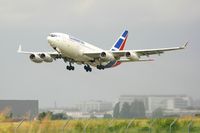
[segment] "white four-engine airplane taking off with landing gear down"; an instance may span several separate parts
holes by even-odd
[[[91,72],[92,67],[99,70],[113,68],[126,62],[153,61],[152,59],[141,59],[150,55],[160,55],[166,51],[184,49],[188,42],[180,47],[124,50],[128,38],[128,30],[124,30],[110,50],[103,50],[85,41],[77,39],[64,33],[50,33],[47,37],[49,45],[55,50],[53,52],[27,52],[22,51],[19,45],[18,53],[29,54],[31,61],[35,63],[53,62],[56,59],[63,59],[69,63],[67,70],[74,70],[74,63],[84,65],[86,72]]]

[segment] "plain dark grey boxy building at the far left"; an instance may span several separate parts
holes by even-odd
[[[38,115],[38,108],[38,100],[0,100],[0,112],[14,119],[33,119]]]

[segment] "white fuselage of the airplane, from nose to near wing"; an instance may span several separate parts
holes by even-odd
[[[99,61],[91,62],[94,59],[84,55],[83,53],[102,52],[103,49],[95,47],[92,44],[89,44],[67,34],[55,34],[57,36],[51,37],[50,35],[47,37],[48,43],[51,47],[60,52],[63,57],[73,59],[77,63],[88,63],[92,66],[96,66],[99,64]]]

